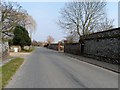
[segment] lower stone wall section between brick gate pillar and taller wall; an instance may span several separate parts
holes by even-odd
[[[75,55],[80,55],[81,45],[79,43],[66,43],[64,45],[64,52]]]

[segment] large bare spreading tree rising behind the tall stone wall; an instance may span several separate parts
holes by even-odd
[[[70,34],[81,35],[97,31],[99,24],[104,23],[106,2],[69,2],[61,10],[59,26]],[[109,24],[109,23],[108,23]]]

